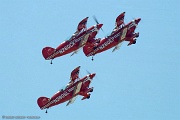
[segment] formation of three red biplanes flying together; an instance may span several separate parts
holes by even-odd
[[[141,18],[133,19],[129,23],[124,23],[125,12],[121,13],[115,20],[115,28],[111,34],[104,38],[96,38],[103,24],[99,24],[95,18],[96,25],[87,28],[88,17],[81,20],[77,26],[76,32],[66,41],[62,42],[58,47],[44,47],[42,55],[45,60],[52,60],[71,53],[76,54],[81,48],[84,54],[89,57],[113,48],[112,52],[118,50],[124,41],[129,42],[128,46],[136,44],[139,32],[135,32]],[[75,68],[70,75],[70,82],[63,89],[60,89],[51,98],[40,97],[37,103],[40,109],[48,109],[52,106],[66,102],[67,106],[72,104],[78,95],[83,96],[82,100],[90,98],[90,92],[93,87],[89,87],[95,73],[89,73],[83,78],[79,78],[80,66]],[[46,111],[47,112],[47,111]]]

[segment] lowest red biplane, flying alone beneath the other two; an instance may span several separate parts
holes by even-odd
[[[82,100],[90,98],[90,92],[93,91],[93,87],[90,88],[89,85],[96,74],[88,74],[87,76],[80,79],[79,70],[80,66],[75,68],[71,72],[70,82],[67,84],[67,86],[64,89],[60,89],[51,98],[38,98],[37,104],[41,110],[46,109],[47,113],[48,108],[66,101],[69,101],[66,105],[68,106],[75,101],[78,95],[83,96]]]

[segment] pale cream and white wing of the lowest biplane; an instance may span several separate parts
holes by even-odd
[[[77,98],[77,93],[79,93],[80,92],[80,90],[81,90],[81,86],[82,86],[82,82],[79,82],[77,85],[76,85],[76,87],[75,87],[75,89],[74,89],[74,92],[73,92],[73,97],[69,100],[69,102],[66,104],[66,106],[68,106],[69,104],[72,104],[72,103],[74,103],[74,101],[76,100],[76,98]]]

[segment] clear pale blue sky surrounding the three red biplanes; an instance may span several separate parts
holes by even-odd
[[[180,1],[179,0],[0,0],[0,115],[40,116],[42,120],[180,120]],[[103,23],[104,37],[116,17],[125,22],[142,18],[136,45],[97,54],[82,50],[53,61],[44,60],[45,46],[57,47],[77,24]],[[81,66],[97,76],[89,100],[52,107],[45,114],[40,96],[51,97]],[[0,116],[0,117],[1,117]],[[0,118],[1,119],[1,118]]]

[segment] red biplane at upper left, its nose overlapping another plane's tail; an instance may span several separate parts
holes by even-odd
[[[84,18],[81,22],[79,22],[77,31],[71,36],[69,40],[61,43],[56,49],[52,47],[45,47],[42,50],[43,57],[46,60],[52,60],[56,57],[63,56],[68,53],[72,53],[74,55],[78,52],[78,49],[83,47],[89,39],[95,38],[99,29],[103,24],[97,24],[90,28],[86,28],[88,17]],[[71,55],[71,56],[72,56]]]

